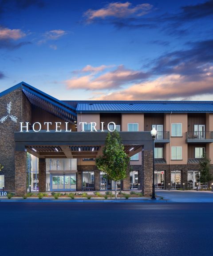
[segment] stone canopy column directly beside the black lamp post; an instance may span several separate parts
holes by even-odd
[[[153,182],[153,150],[142,151],[142,193],[144,196],[152,194]]]

